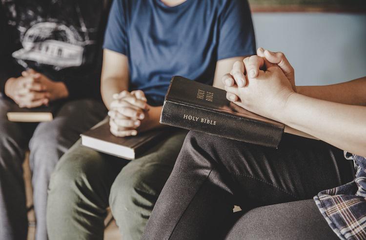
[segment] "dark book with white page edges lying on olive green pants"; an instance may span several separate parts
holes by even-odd
[[[165,130],[154,129],[121,138],[114,136],[109,129],[109,123],[106,122],[81,134],[81,144],[99,152],[133,160],[154,146],[158,142],[157,138],[166,134]]]

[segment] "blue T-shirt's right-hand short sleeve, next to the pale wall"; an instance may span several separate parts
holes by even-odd
[[[218,60],[254,55],[255,35],[247,0],[227,0],[219,18]]]

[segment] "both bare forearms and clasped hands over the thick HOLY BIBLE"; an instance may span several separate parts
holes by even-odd
[[[295,86],[283,53],[258,49],[236,62],[223,83],[227,99],[264,117],[366,156],[366,77],[328,86]]]

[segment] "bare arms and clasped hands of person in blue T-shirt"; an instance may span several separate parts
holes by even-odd
[[[224,88],[221,76],[235,61],[244,57],[217,61],[213,85]],[[128,92],[128,59],[125,55],[105,49],[103,54],[101,92],[109,109],[110,131],[118,137],[134,136],[139,132],[162,127],[159,123],[163,106],[150,106],[143,91]]]

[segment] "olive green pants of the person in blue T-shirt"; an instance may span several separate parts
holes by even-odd
[[[123,240],[139,240],[186,134],[185,130],[175,130],[132,161],[83,147],[81,140],[75,143],[50,180],[50,240],[103,239],[108,205]]]

